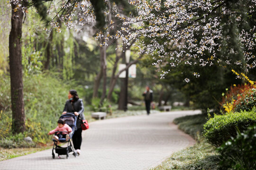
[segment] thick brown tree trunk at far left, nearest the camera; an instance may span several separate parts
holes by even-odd
[[[20,133],[25,131],[25,111],[23,100],[22,81],[22,19],[23,1],[15,1],[11,4],[11,31],[9,35],[9,66],[11,85],[11,109],[12,109],[12,131]],[[20,6],[21,5],[21,6]],[[18,7],[20,6],[20,7]],[[18,8],[18,10],[17,10]],[[16,12],[15,12],[16,11]]]

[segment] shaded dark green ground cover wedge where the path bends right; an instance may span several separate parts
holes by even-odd
[[[206,114],[189,115],[174,119],[174,123],[178,125],[179,129],[196,139],[203,132],[203,124],[207,121],[206,118]]]

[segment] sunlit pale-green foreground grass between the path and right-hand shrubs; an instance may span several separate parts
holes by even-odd
[[[215,148],[201,140],[192,147],[174,153],[150,170],[219,170],[219,156]]]

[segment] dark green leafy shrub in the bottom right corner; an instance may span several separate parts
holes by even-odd
[[[218,148],[223,170],[256,169],[256,125]]]

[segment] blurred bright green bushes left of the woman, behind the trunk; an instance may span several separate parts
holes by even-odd
[[[0,138],[1,146],[21,147],[12,145],[11,110],[9,77],[0,79]],[[30,136],[35,143],[46,143],[50,140],[47,133],[57,126],[64,102],[67,99],[70,84],[56,78],[54,74],[38,74],[24,77],[24,103],[26,114],[26,131],[23,136]],[[79,93],[79,90],[78,90]],[[22,146],[23,147],[23,146]]]

